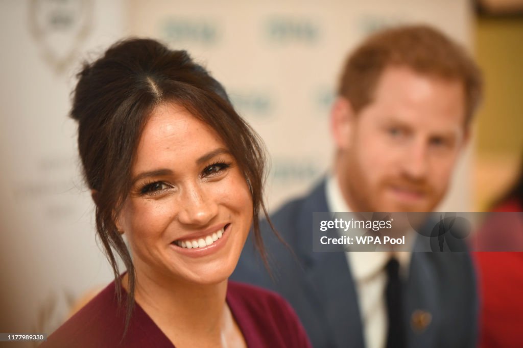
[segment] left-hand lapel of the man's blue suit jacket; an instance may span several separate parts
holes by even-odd
[[[325,182],[304,201],[298,218],[298,253],[317,315],[324,318],[336,347],[363,348],[362,326],[353,277],[343,251],[312,251],[312,213],[328,211]]]

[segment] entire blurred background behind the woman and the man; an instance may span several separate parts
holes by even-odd
[[[275,209],[329,169],[347,53],[411,22],[441,29],[483,69],[474,138],[439,210],[488,210],[523,155],[521,0],[1,0],[0,332],[51,333],[112,279],[68,118],[82,61],[129,35],[188,50],[265,140]]]

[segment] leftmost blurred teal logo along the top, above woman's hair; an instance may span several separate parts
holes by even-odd
[[[161,21],[160,33],[168,43],[212,45],[219,40],[218,25],[209,20],[167,18]]]

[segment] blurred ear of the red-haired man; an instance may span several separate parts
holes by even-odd
[[[331,110],[331,133],[338,150],[350,147],[355,116],[353,107],[346,98],[336,98]]]

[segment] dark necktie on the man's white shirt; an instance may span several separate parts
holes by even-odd
[[[403,320],[403,303],[400,279],[400,263],[391,257],[386,265],[387,285],[385,298],[387,303],[387,318],[389,331],[387,333],[387,348],[405,348],[405,328]]]

